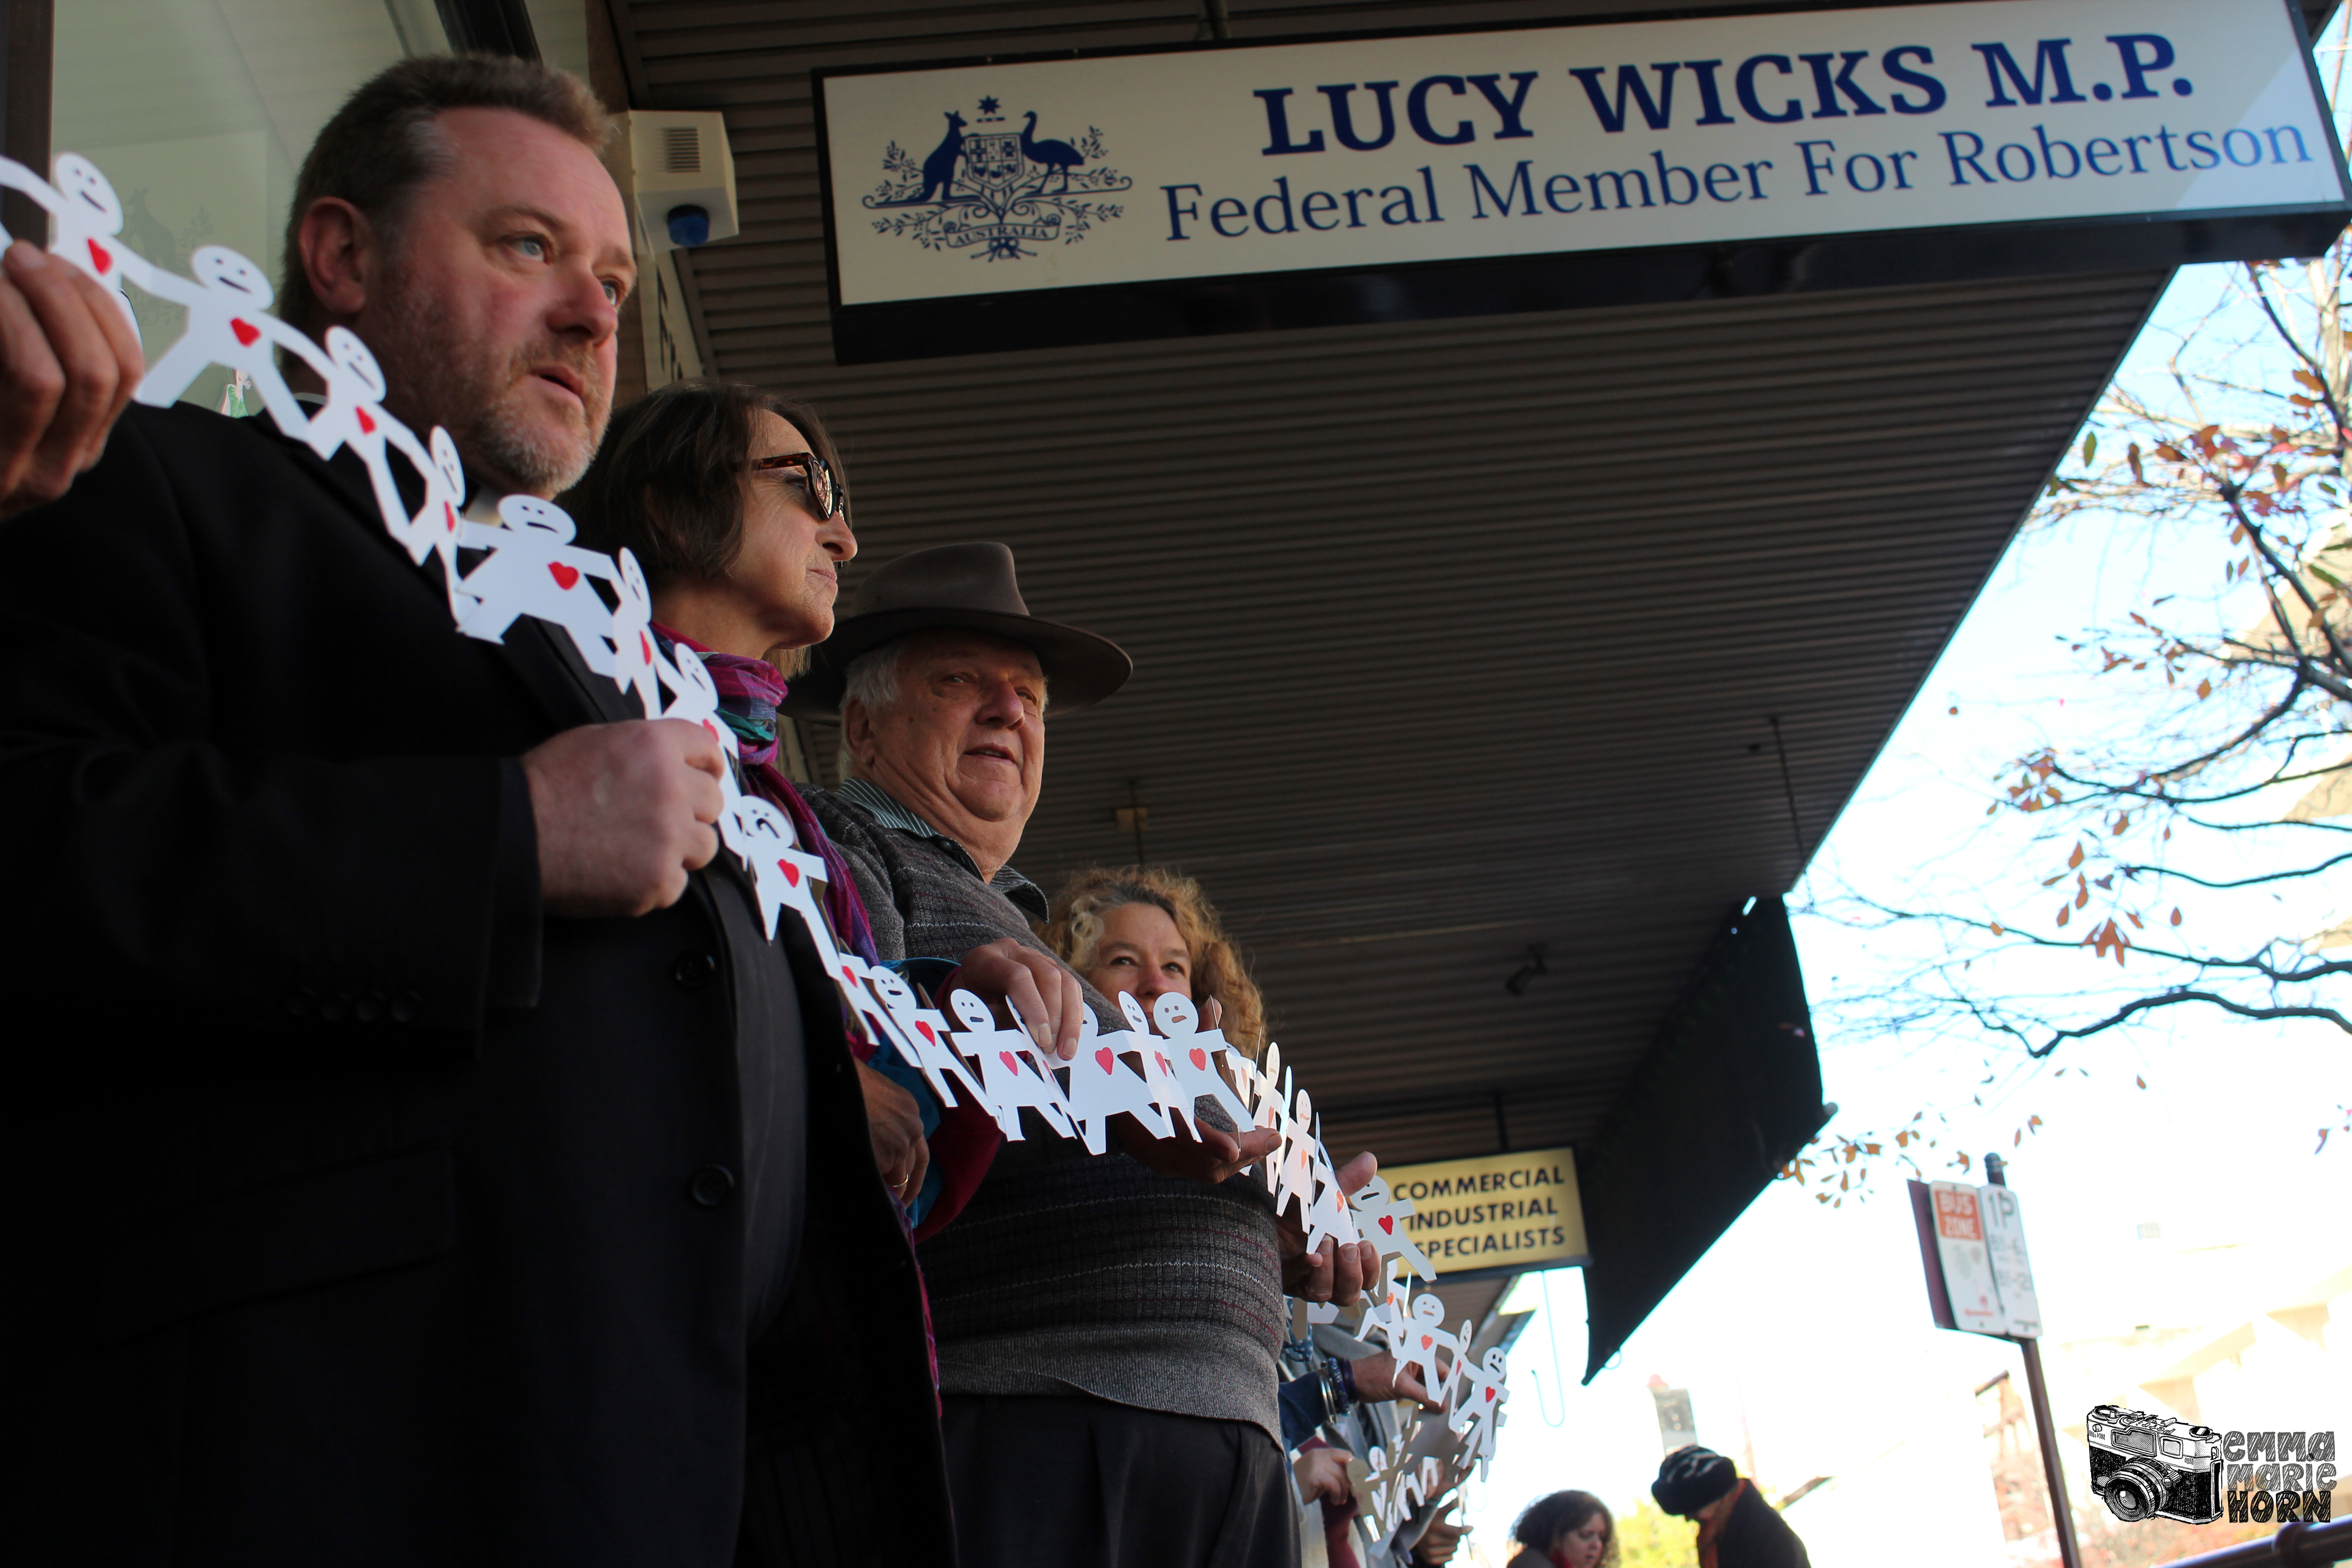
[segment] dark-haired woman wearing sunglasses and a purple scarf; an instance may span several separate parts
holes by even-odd
[[[755,386],[680,381],[614,416],[595,468],[567,501],[576,503],[586,541],[602,550],[626,545],[637,557],[654,635],[666,651],[694,649],[710,670],[720,712],[739,741],[743,788],[790,816],[802,846],[823,856],[833,938],[875,961],[847,863],[776,766],[776,703],[809,644],[833,632],[840,567],[858,550],[823,421]],[[990,959],[990,950],[964,954],[967,983],[981,976],[974,990],[997,990],[990,961],[1021,964]],[[913,1222],[929,1166],[922,1103],[906,1088],[915,1074],[887,1046],[875,1053],[851,1039],[851,1051],[875,1166]],[[833,1201],[856,1178],[807,1173],[802,1260],[830,1255],[821,1244],[837,1227]],[[913,1265],[913,1241],[908,1248]],[[924,1474],[936,1474],[936,1434],[880,1434],[856,1415],[875,1359],[887,1354],[870,1342],[861,1286],[802,1262],[776,1319],[755,1328],[739,1561],[762,1568],[896,1561],[887,1549],[898,1540],[894,1519],[920,1512],[908,1488],[920,1483],[922,1467],[910,1462],[889,1474],[877,1455],[901,1443],[920,1455],[929,1446]],[[936,1371],[929,1378],[936,1387]]]

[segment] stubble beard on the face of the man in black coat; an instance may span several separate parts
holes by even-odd
[[[612,418],[612,386],[593,348],[539,336],[513,355],[499,355],[452,331],[449,313],[419,287],[395,287],[383,324],[369,348],[393,388],[393,414],[419,430],[442,425],[456,440],[466,465],[513,484],[517,491],[555,496],[588,473]],[[569,430],[548,430],[517,404],[532,364],[557,362],[581,376],[583,404]]]

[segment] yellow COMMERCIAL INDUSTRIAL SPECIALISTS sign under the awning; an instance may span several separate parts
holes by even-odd
[[[1439,1274],[1583,1262],[1585,1208],[1571,1150],[1519,1150],[1381,1171],[1411,1199],[1406,1234]]]

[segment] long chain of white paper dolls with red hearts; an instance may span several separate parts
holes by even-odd
[[[214,364],[242,374],[282,435],[320,458],[341,449],[360,458],[386,531],[419,567],[428,555],[440,557],[459,632],[501,642],[522,616],[562,628],[593,672],[637,696],[644,717],[701,724],[729,757],[739,755],[701,658],[691,649],[666,651],[654,642],[652,595],[635,557],[574,545],[572,517],[532,496],[506,496],[499,524],[463,517],[466,468],[456,442],[440,428],[419,442],[414,430],[383,411],[383,371],[355,334],[329,327],[320,346],[273,317],[268,273],[228,247],[200,247],[191,256],[193,277],[139,256],[120,237],[122,202],[113,186],[78,153],[56,158],[54,186],[0,158],[0,188],[28,195],[49,214],[56,230],[49,254],[108,289],[134,329],[125,287],[186,308],[188,324],[139,383],[139,402],[169,407]],[[5,228],[0,244],[7,244]],[[327,388],[318,411],[306,411],[287,388],[278,371],[280,353],[301,360]],[[423,480],[423,503],[414,510],[402,498],[395,456]],[[487,555],[461,571],[459,550]],[[612,592],[612,604],[597,585]],[[1265,1157],[1275,1213],[1296,1218],[1310,1251],[1324,1241],[1371,1241],[1381,1251],[1385,1300],[1371,1305],[1362,1333],[1385,1338],[1399,1366],[1421,1356],[1423,1385],[1444,1408],[1446,1425],[1463,1434],[1461,1450],[1439,1472],[1430,1469],[1435,1458],[1411,1469],[1397,1458],[1376,1476],[1381,1519],[1388,1521],[1383,1533],[1414,1500],[1432,1500],[1430,1488],[1442,1476],[1458,1476],[1472,1458],[1484,1469],[1508,1399],[1503,1354],[1494,1349],[1486,1366],[1470,1368],[1463,1359],[1470,1326],[1463,1324],[1458,1335],[1444,1333],[1444,1307],[1435,1295],[1397,1288],[1399,1267],[1435,1279],[1430,1260],[1406,1234],[1404,1218],[1414,1206],[1395,1199],[1378,1178],[1362,1192],[1338,1190],[1312,1103],[1303,1088],[1294,1091],[1279,1046],[1268,1046],[1263,1065],[1251,1063],[1221,1032],[1200,1030],[1190,1001],[1174,994],[1160,997],[1152,1020],[1143,1018],[1134,997],[1122,997],[1129,1027],[1110,1034],[1098,1032],[1087,1013],[1080,1056],[1068,1065],[1047,1058],[1021,1030],[1000,1027],[971,992],[948,997],[962,1025],[950,1027],[896,971],[868,966],[835,940],[814,891],[826,879],[826,863],[797,842],[790,818],[743,792],[734,771],[722,778],[722,795],[720,837],[750,879],[767,933],[774,938],[786,910],[797,914],[858,1025],[915,1063],[946,1105],[957,1103],[957,1091],[971,1095],[1007,1138],[1021,1138],[1021,1110],[1035,1110],[1056,1131],[1084,1138],[1094,1152],[1108,1147],[1108,1124],[1120,1114],[1138,1117],[1160,1135],[1181,1124],[1197,1138],[1204,1100],[1221,1105],[1235,1126],[1275,1131],[1279,1145]],[[1315,1307],[1310,1319],[1334,1321],[1336,1309]],[[1439,1349],[1449,1356],[1446,1373],[1437,1373]],[[1404,1446],[1399,1441],[1399,1453]],[[1449,1488],[1451,1479],[1444,1481]]]

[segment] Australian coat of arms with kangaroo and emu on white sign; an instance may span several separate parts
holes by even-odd
[[[1035,244],[1077,244],[1096,223],[1120,216],[1101,200],[1134,181],[1103,167],[1103,132],[1073,141],[1037,134],[1037,110],[1009,129],[997,99],[981,99],[967,125],[946,110],[948,134],[920,162],[896,141],[882,155],[884,179],[866,197],[884,235],[910,235],[924,249],[988,261],[1035,256]]]

